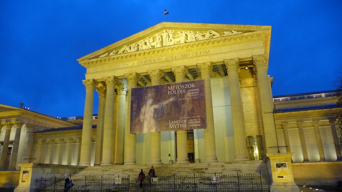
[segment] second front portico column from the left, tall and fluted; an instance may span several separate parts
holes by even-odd
[[[103,135],[103,153],[101,165],[112,165],[112,139],[113,139],[113,125],[114,125],[114,99],[115,99],[115,77],[105,78],[107,85],[107,96],[105,106],[105,124]]]

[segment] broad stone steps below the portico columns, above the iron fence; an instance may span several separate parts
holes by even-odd
[[[137,176],[140,169],[145,174],[149,173],[151,165],[112,165],[91,166],[72,177],[84,176]],[[263,161],[239,161],[239,162],[211,162],[211,163],[176,163],[154,164],[157,176],[163,175],[192,175],[192,174],[236,174],[236,173],[268,173],[267,165]]]

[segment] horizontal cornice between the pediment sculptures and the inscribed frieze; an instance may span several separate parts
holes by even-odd
[[[253,33],[256,33],[256,32],[253,32]],[[170,53],[178,54],[178,53],[182,53],[185,51],[189,52],[189,51],[200,50],[203,48],[212,48],[212,47],[217,47],[217,46],[224,46],[224,45],[230,45],[230,44],[253,41],[253,40],[262,39],[265,42],[265,35],[263,35],[260,32],[256,34],[249,34],[249,35],[238,34],[238,35],[235,35],[234,38],[227,38],[227,37],[229,36],[211,38],[211,39],[206,39],[206,40],[201,40],[201,41],[194,41],[190,43],[170,45],[167,47],[153,48],[153,49],[148,49],[148,50],[143,50],[143,51],[130,52],[130,53],[125,53],[125,54],[114,55],[111,57],[94,58],[94,59],[89,59],[86,61],[81,61],[80,64],[88,68],[88,67],[100,66],[100,65],[105,65],[105,64],[129,62],[129,61],[136,60],[137,58],[144,59],[144,58],[149,58],[151,56],[162,57],[162,56],[167,56]]]

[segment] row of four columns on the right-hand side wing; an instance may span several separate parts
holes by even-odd
[[[341,154],[341,147],[340,143],[338,140],[338,135],[336,131],[336,120],[335,119],[330,119],[329,124],[331,128],[331,133],[333,137],[333,143],[334,143],[334,149],[335,153],[337,156],[337,160],[340,161],[342,160],[342,154]],[[320,130],[320,120],[313,120],[311,121],[312,127],[314,128],[314,135],[315,135],[315,140],[316,140],[316,145],[318,149],[318,154],[320,156],[320,162],[325,162],[325,154],[324,154],[324,148],[323,148],[323,143],[322,143],[322,138],[321,138],[321,130]],[[300,147],[302,151],[302,156],[303,156],[303,162],[310,162],[309,160],[309,151],[307,149],[307,140],[305,138],[304,134],[304,128],[303,128],[303,121],[297,121],[296,122],[297,129],[299,132],[299,139],[300,139]],[[282,122],[281,123],[282,129],[283,129],[283,135],[284,135],[284,141],[285,141],[285,146],[286,147],[286,152],[291,153],[292,148],[291,148],[291,143],[290,143],[290,138],[289,138],[289,131],[288,131],[288,122]]]

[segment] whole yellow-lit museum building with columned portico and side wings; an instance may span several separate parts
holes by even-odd
[[[31,162],[200,166],[268,154],[290,156],[296,183],[311,179],[296,170],[324,163],[336,170],[336,91],[273,97],[271,29],[162,22],[79,58],[84,116],[59,119],[0,105],[0,170]]]

